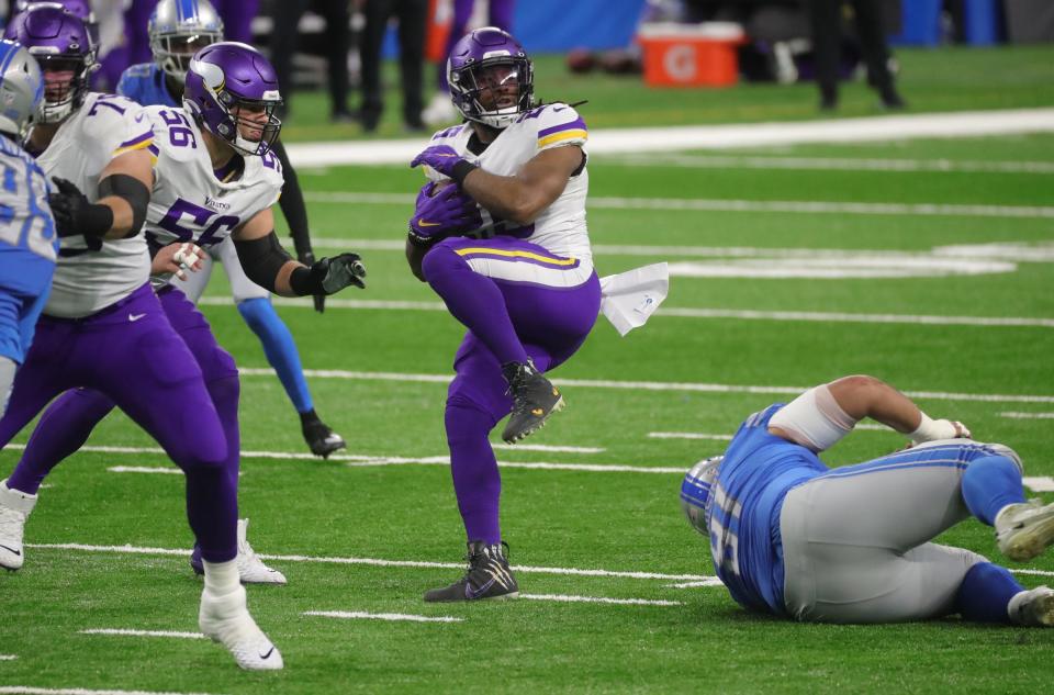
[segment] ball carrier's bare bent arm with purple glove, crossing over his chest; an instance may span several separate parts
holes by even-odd
[[[534,222],[542,210],[560,198],[568,179],[582,166],[584,156],[578,145],[553,147],[535,155],[515,176],[497,176],[471,165],[452,148],[440,145],[425,149],[411,166],[428,165],[452,178],[461,190],[491,214],[525,225]]]

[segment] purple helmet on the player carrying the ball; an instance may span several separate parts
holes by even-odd
[[[532,105],[530,58],[512,34],[496,26],[470,32],[453,45],[447,58],[447,81],[461,115],[498,130]]]

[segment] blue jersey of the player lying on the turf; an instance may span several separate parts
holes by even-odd
[[[786,615],[783,500],[792,487],[829,470],[805,447],[769,433],[769,421],[782,407],[770,405],[740,425],[706,505],[715,572],[738,604],[777,615]]]

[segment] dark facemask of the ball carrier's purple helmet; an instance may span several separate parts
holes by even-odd
[[[470,121],[503,130],[532,107],[534,67],[526,56],[503,53],[457,70],[448,64],[447,71],[453,105]]]

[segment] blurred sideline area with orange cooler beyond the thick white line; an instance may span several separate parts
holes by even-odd
[[[7,18],[13,0],[0,0]],[[113,88],[149,61],[156,0],[94,0]],[[1045,105],[1050,0],[215,0],[231,40],[267,52],[288,139],[413,136],[457,119],[449,46],[511,31],[542,99],[590,123],[662,125]]]

